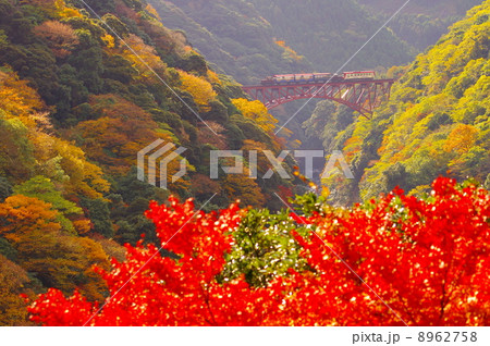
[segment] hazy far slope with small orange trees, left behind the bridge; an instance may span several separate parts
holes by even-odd
[[[274,39],[271,25],[243,0],[151,0],[163,23],[182,29],[210,62],[242,84],[284,71],[310,70],[304,57]]]

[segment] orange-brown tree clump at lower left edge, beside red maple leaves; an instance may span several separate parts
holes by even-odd
[[[0,203],[0,236],[17,251],[19,264],[47,287],[69,294],[81,288],[90,299],[102,299],[106,287],[91,265],[109,269],[102,247],[62,230],[59,212],[37,198],[14,195]]]

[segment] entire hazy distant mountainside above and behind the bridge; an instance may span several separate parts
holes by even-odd
[[[405,1],[150,0],[163,23],[238,83],[336,71]],[[479,0],[413,0],[345,70],[411,62]]]

